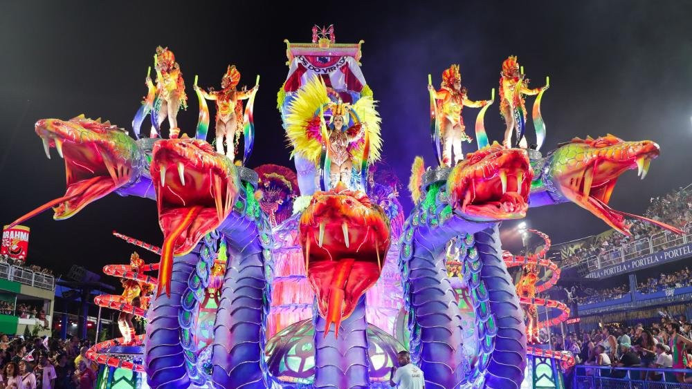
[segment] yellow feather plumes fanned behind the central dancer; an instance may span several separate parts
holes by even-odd
[[[315,163],[320,161],[322,153],[322,117],[320,112],[335,115],[339,109],[344,111],[344,124],[348,127],[364,126],[370,141],[368,162],[380,158],[382,138],[380,137],[381,119],[375,109],[375,102],[370,96],[361,96],[355,104],[342,104],[329,99],[327,86],[320,77],[313,77],[296,93],[295,99],[288,107],[284,120],[286,137],[293,153]],[[365,138],[365,137],[363,137]],[[363,158],[364,140],[354,142],[349,146],[349,153],[355,160]]]

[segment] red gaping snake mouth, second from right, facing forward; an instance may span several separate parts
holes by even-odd
[[[533,178],[526,151],[495,145],[468,157],[447,180],[454,210],[473,220],[524,218]]]

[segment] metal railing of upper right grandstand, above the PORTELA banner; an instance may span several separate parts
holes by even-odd
[[[625,243],[619,247],[613,247],[608,251],[579,258],[574,262],[566,263],[563,267],[569,269],[586,263],[590,271],[617,265],[626,260],[638,258],[655,252],[660,252],[671,247],[684,245],[692,242],[692,231],[685,235],[677,235],[668,231],[653,234],[648,238],[641,238],[634,242]],[[692,389],[692,388],[691,388]]]

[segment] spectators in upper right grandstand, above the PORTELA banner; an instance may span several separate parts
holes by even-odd
[[[644,212],[644,216],[654,220],[665,222],[673,227],[678,227],[684,231],[691,231],[692,228],[692,186],[679,188],[677,191],[668,193],[651,199],[651,204]],[[623,234],[608,234],[607,236],[594,237],[590,245],[574,247],[570,250],[571,255],[563,257],[563,265],[576,265],[577,263],[593,256],[601,256],[602,260],[608,260],[608,252],[614,247],[622,247],[623,253],[636,254],[648,248],[649,236],[662,231],[652,223],[634,220],[630,225],[632,236]],[[662,243],[659,249],[667,249],[676,243]],[[576,246],[576,245],[575,245]],[[620,256],[615,252],[612,256]],[[604,258],[605,257],[605,258]]]

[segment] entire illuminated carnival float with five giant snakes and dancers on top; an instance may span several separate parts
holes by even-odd
[[[538,254],[513,256],[502,250],[500,223],[531,207],[574,202],[623,234],[628,217],[680,232],[608,207],[619,175],[637,169],[644,178],[659,155],[654,142],[575,137],[545,156],[538,151],[549,83],[529,88],[516,57],[500,76],[502,144],[484,125],[494,89],[490,99],[470,99],[459,65],[444,70],[440,88],[428,77],[437,160],[426,168],[415,158],[407,217],[396,176],[379,162],[381,118],[361,71],[363,41],[336,43],[333,26],[316,26],[309,43],[285,43],[289,72],[277,106],[295,171],[248,167],[260,77],[238,89],[232,64],[219,91],[194,77],[198,124],[193,137],[181,131],[185,82],[169,48],[156,49],[156,79],[149,70],[134,137],[84,115],[35,124],[48,158],[55,148],[64,159],[67,188],[13,224],[51,208],[55,220],[69,218],[110,193],[148,198],[158,211],[161,247],[116,236],[159,263],[133,254],[129,265],[104,267],[125,291],[95,298],[121,312],[122,332],[88,352],[101,366],[99,388],[385,388],[401,350],[428,388],[536,387],[538,364],[557,377],[574,359],[527,339],[569,310],[536,297],[559,277],[545,259],[547,237]],[[532,144],[525,95],[536,95]],[[207,100],[216,106],[212,143]],[[471,153],[462,151],[472,140],[464,106],[480,108]],[[519,285],[509,267],[522,267]],[[538,267],[552,271],[547,283],[536,284]],[[539,321],[537,305],[558,316]],[[143,334],[134,332],[134,317],[145,319]]]

